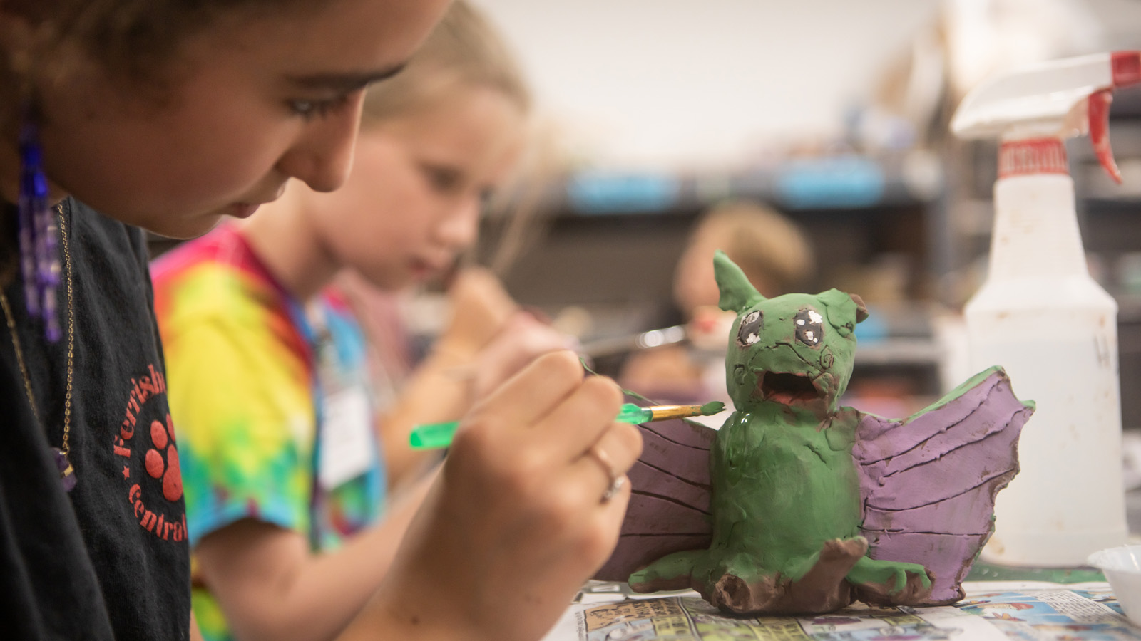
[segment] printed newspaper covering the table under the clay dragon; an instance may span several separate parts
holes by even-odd
[[[545,641],[1118,641],[1141,640],[1108,583],[964,583],[953,606],[863,603],[810,617],[726,616],[696,592],[637,595],[588,586]]]

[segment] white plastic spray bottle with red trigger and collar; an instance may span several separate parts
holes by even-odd
[[[1077,566],[1126,538],[1117,303],[1086,267],[1063,140],[1089,132],[1120,182],[1109,102],[1136,82],[1138,51],[1051,62],[978,87],[952,121],[961,138],[1001,141],[989,271],[964,310],[971,365],[1002,365],[1037,403],[987,561]]]

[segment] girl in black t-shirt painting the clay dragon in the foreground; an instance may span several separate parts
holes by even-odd
[[[363,89],[407,64],[446,5],[0,1],[7,635],[199,638],[181,440],[135,226],[194,236],[291,178],[341,186]],[[541,636],[617,538],[629,489],[600,497],[640,448],[613,423],[620,404],[568,352],[489,391],[379,587],[327,635]]]

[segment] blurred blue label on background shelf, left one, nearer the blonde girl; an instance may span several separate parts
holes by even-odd
[[[677,204],[679,190],[667,176],[582,172],[567,184],[567,198],[580,213],[652,212]]]

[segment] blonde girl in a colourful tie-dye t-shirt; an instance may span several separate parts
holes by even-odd
[[[342,628],[380,584],[428,487],[382,514],[386,464],[413,466],[412,424],[462,416],[565,347],[515,313],[489,275],[461,275],[454,318],[378,451],[366,341],[348,298],[438,275],[475,242],[483,202],[523,151],[528,107],[497,35],[455,2],[407,67],[366,92],[341,188],[293,182],[249,220],[155,263],[207,639],[326,639]],[[365,285],[330,289],[345,271]]]

